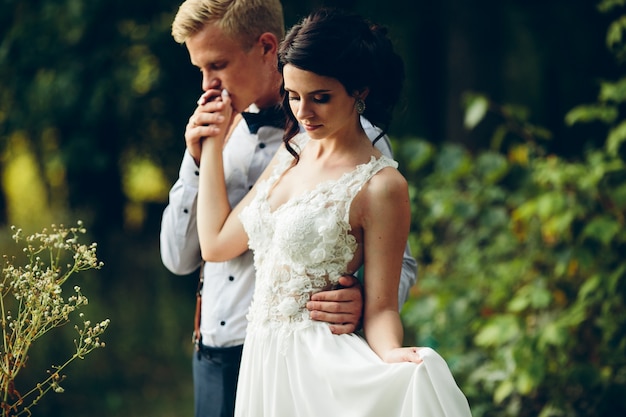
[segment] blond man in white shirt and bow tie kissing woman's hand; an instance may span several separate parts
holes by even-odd
[[[231,261],[202,263],[196,228],[201,138],[211,134],[210,125],[216,121],[207,97],[215,90],[227,89],[240,113],[223,153],[229,201],[235,206],[282,143],[284,116],[275,112],[281,102],[277,48],[284,35],[282,5],[279,0],[187,0],[176,14],[172,35],[186,45],[191,63],[202,74],[202,90],[208,94],[200,98],[186,126],[179,178],[163,213],[161,258],[177,275],[201,269],[195,320],[197,354],[193,357],[195,416],[230,417],[254,268],[249,251]],[[362,123],[374,138],[377,129],[364,119]],[[387,138],[377,146],[391,154]],[[407,245],[399,305],[415,283],[416,271]],[[343,289],[315,294],[307,305],[311,318],[330,323],[337,334],[357,330],[363,304],[354,277],[342,277],[340,282]]]

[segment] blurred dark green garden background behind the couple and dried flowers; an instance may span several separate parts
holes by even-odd
[[[170,35],[179,3],[0,0],[0,253],[10,225],[83,220],[105,263],[76,278],[84,312],[111,319],[36,416],[192,415],[197,276],[170,274],[158,244],[201,93]],[[623,3],[283,1],[287,26],[357,11],[405,59],[390,136],[420,264],[407,343],[444,354],[476,416],[626,412]],[[38,341],[18,389],[73,337]]]

